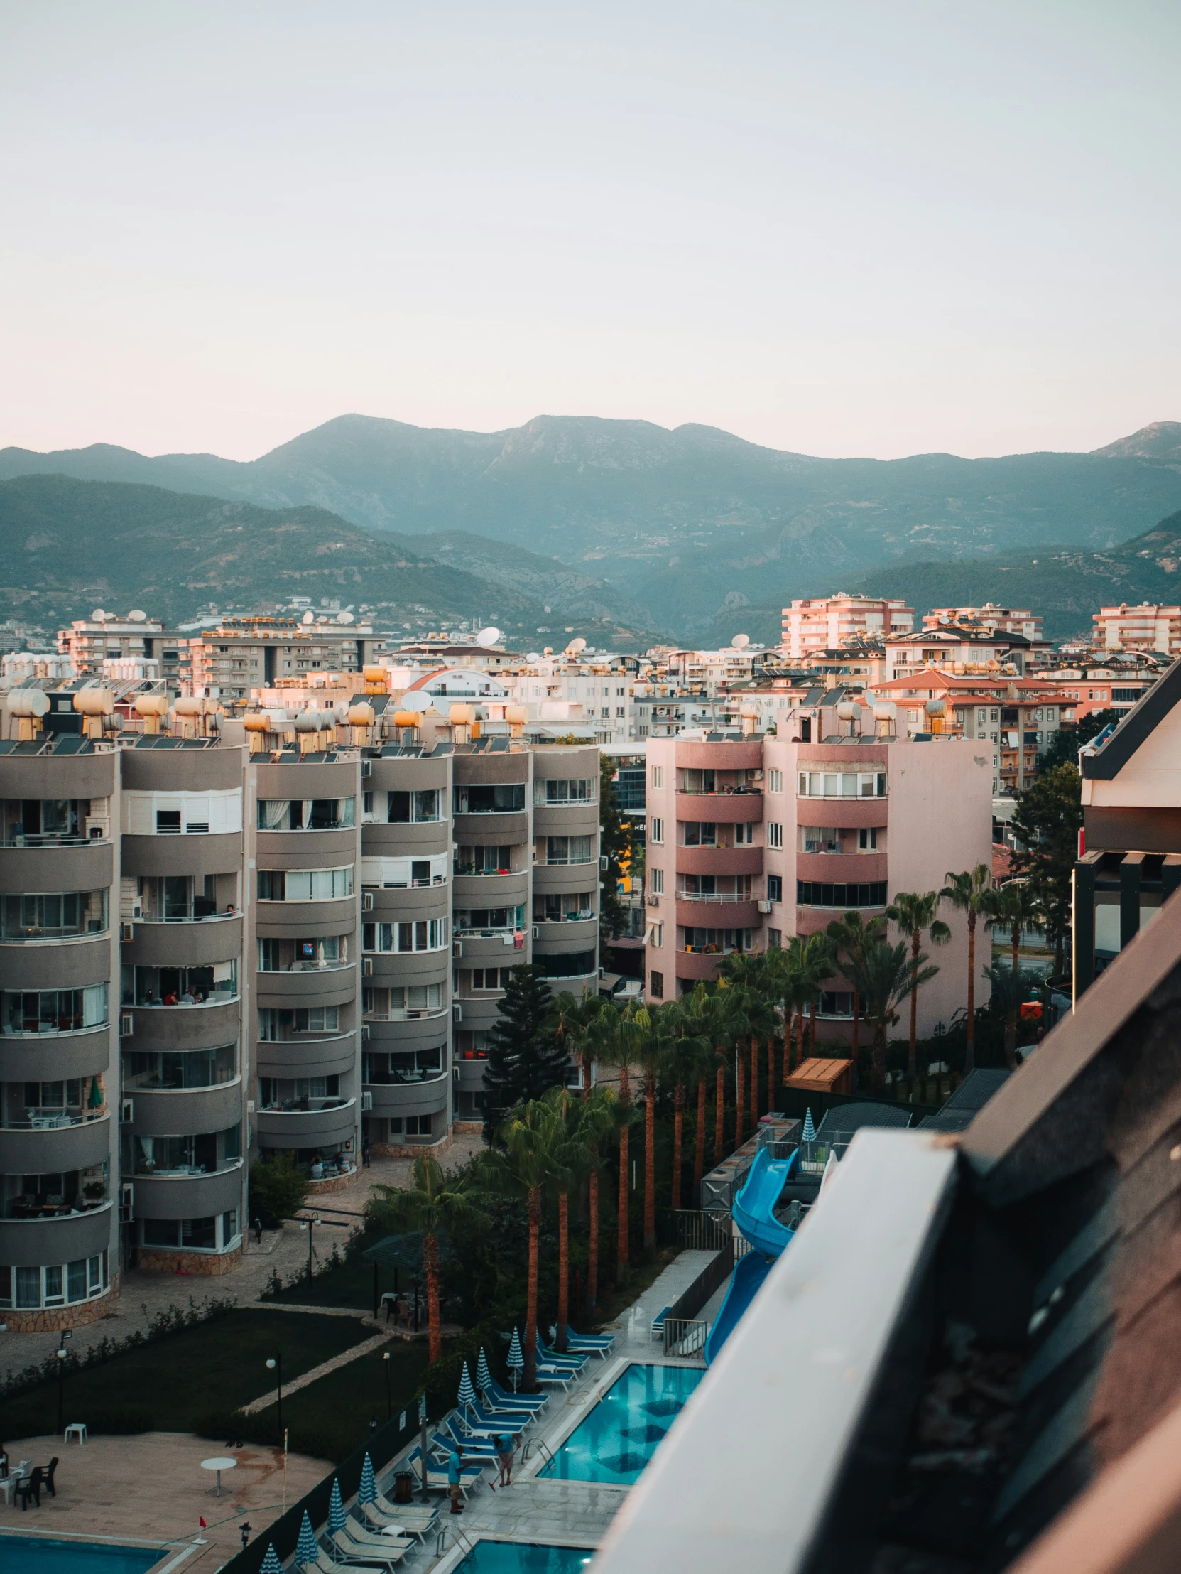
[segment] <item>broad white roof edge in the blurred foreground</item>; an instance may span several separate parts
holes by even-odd
[[[791,1574],[955,1190],[945,1135],[860,1130],[615,1517],[596,1574]]]

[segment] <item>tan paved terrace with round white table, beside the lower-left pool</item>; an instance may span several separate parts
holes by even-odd
[[[242,1524],[252,1525],[255,1541],[283,1509],[283,1454],[277,1448],[219,1448],[201,1437],[182,1432],[143,1432],[138,1437],[93,1437],[85,1447],[61,1445],[60,1437],[27,1437],[8,1443],[9,1458],[47,1465],[60,1456],[57,1497],[41,1494],[41,1508],[22,1511],[0,1498],[0,1568],[17,1571],[5,1555],[5,1533],[22,1536],[82,1536],[86,1541],[113,1538],[123,1543],[164,1547],[165,1543],[192,1543],[198,1517],[209,1527],[208,1547],[192,1552],[181,1569],[197,1568],[212,1574],[242,1546]],[[201,1469],[203,1459],[217,1454],[237,1459],[234,1470],[222,1473],[222,1495],[215,1476]],[[286,1500],[294,1503],[332,1470],[326,1459],[288,1454]],[[176,1550],[176,1547],[173,1547]]]

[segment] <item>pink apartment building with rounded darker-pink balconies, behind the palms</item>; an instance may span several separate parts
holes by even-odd
[[[789,713],[780,721],[782,737],[648,743],[649,999],[714,977],[731,951],[766,951],[849,908],[871,918],[900,891],[991,867],[991,754],[942,737],[799,743]],[[933,955],[940,971],[918,999],[922,1036],[966,998],[967,932],[961,914],[945,919],[953,938]],[[977,957],[983,970],[986,940]],[[988,999],[983,977],[977,999]],[[851,1017],[852,995],[837,976],[822,993],[818,1037],[848,1040]]]

